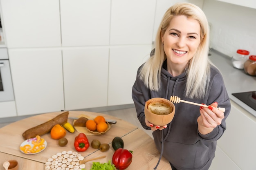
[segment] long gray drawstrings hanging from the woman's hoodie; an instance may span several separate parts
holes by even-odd
[[[174,91],[175,91],[175,88],[176,88],[176,86],[177,86],[177,82],[179,81],[179,79],[180,79],[180,78],[177,78],[176,81],[175,81],[175,84],[174,84],[174,86],[173,86],[172,95],[173,95],[173,93],[174,93]],[[167,89],[166,89],[166,96],[165,96],[166,99],[167,99],[167,97],[168,97],[169,81],[170,81],[170,77],[168,76]],[[166,141],[167,137],[169,136],[169,134],[170,134],[170,132],[171,132],[171,124],[172,124],[172,121],[170,122],[170,124],[169,124],[169,126],[168,126],[168,132],[167,132],[165,138],[164,138],[164,131],[162,130],[162,132],[161,132],[161,136],[160,136],[160,137],[162,138],[162,141],[161,141],[161,143],[162,143],[162,149],[161,149],[161,153],[160,153],[160,156],[159,156],[157,165],[155,166],[154,170],[157,169],[157,166],[158,166],[158,164],[159,164],[159,162],[160,162],[160,160],[161,160],[161,158],[162,158],[162,156],[163,156],[163,152],[164,152],[164,142]]]

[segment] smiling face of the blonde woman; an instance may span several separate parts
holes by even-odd
[[[162,35],[168,71],[171,73],[175,68],[176,72],[184,72],[187,63],[195,55],[200,41],[200,24],[197,20],[187,18],[185,15],[174,16]]]

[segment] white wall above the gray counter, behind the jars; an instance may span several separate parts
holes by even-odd
[[[232,56],[237,49],[256,55],[256,9],[216,0],[204,0],[211,26],[211,47]]]

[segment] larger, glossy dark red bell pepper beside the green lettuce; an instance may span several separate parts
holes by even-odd
[[[112,163],[119,170],[125,170],[132,163],[132,151],[119,148],[114,152]]]

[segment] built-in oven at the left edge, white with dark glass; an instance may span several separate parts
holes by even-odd
[[[0,48],[0,102],[13,101],[13,86],[7,48]]]

